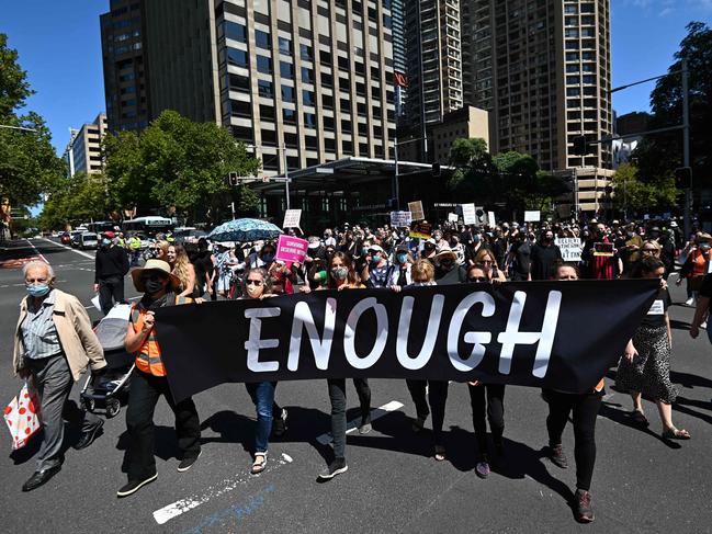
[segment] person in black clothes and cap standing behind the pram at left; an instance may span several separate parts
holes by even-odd
[[[94,293],[106,315],[114,303],[124,302],[124,276],[128,272],[126,250],[114,245],[114,232],[104,232],[94,259]]]

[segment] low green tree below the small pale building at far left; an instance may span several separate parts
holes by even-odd
[[[39,215],[43,230],[60,230],[91,219],[105,219],[111,211],[106,195],[108,180],[103,174],[78,172],[55,183]]]

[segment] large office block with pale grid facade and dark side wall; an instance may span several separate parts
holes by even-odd
[[[270,173],[347,156],[389,157],[391,2],[143,3],[149,120],[172,109],[229,126]]]

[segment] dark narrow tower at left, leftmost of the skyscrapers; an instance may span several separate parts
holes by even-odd
[[[150,118],[143,26],[145,3],[144,0],[111,0],[110,11],[100,18],[106,117],[114,133],[144,128]]]

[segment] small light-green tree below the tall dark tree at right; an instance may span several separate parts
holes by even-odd
[[[633,163],[623,163],[613,175],[613,206],[629,213],[648,213],[675,206],[677,190],[673,174],[648,181],[640,178]]]

